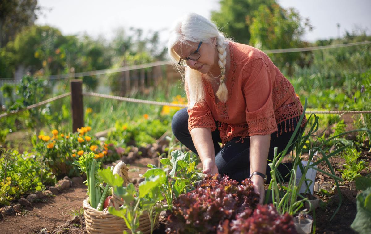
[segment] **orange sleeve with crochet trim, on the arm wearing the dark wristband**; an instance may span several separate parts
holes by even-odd
[[[246,122],[249,136],[267,135],[277,131],[272,100],[272,78],[262,58],[250,61],[242,70],[246,101]]]

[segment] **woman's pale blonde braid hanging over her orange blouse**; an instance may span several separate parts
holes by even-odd
[[[227,52],[226,52],[226,44],[225,42],[225,37],[221,34],[217,37],[217,50],[219,52],[218,57],[218,65],[220,67],[220,71],[222,73],[220,77],[220,84],[218,91],[216,92],[216,96],[219,98],[220,101],[226,102],[228,99],[228,89],[225,84],[225,79],[226,79],[226,63],[227,63]]]

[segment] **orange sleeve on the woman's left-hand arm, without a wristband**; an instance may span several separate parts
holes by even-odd
[[[185,93],[189,100],[188,85],[184,82]],[[216,129],[216,124],[211,111],[206,101],[197,103],[192,108],[188,108],[188,131],[191,132],[193,128],[211,128],[211,131]]]

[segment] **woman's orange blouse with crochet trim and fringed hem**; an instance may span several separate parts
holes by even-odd
[[[243,143],[245,137],[274,133],[278,131],[278,124],[281,124],[279,134],[282,129],[293,131],[292,120],[289,126],[283,121],[292,118],[298,121],[303,106],[292,84],[259,49],[230,42],[229,50],[226,103],[216,103],[213,88],[203,75],[205,101],[188,108],[188,130],[211,128],[214,131],[218,127],[223,146],[234,137],[240,137]],[[189,100],[186,82],[185,91]],[[305,123],[306,119],[301,126]]]

